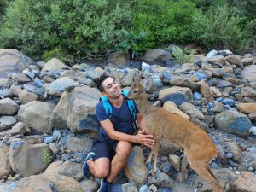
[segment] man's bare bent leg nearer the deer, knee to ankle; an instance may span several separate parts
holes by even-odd
[[[116,147],[116,154],[111,161],[111,169],[107,177],[109,183],[113,183],[113,179],[117,177],[119,172],[124,168],[131,153],[132,145],[130,142],[119,141]]]

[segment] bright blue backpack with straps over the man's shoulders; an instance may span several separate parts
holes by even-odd
[[[137,125],[136,125],[136,109],[135,109],[134,101],[129,99],[128,93],[129,93],[128,91],[122,90],[122,94],[124,96],[125,101],[127,101],[128,108],[130,109],[132,117],[133,117],[133,123],[135,125],[136,130],[137,130]],[[111,107],[111,105],[110,105],[110,103],[108,101],[108,97],[107,96],[101,96],[100,97],[100,102],[102,102],[103,107],[105,109],[105,112],[106,112],[106,114],[108,116],[108,119],[110,119],[112,117],[112,107]],[[107,132],[104,129],[101,128],[100,132],[101,132],[102,135],[108,136]]]

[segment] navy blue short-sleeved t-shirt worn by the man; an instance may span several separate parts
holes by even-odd
[[[128,102],[124,100],[120,108],[114,107],[111,104],[111,102],[109,103],[112,107],[112,117],[110,118],[110,121],[113,124],[114,130],[123,132],[126,134],[132,134],[133,133],[133,116],[128,107]],[[136,113],[139,113],[139,110],[135,102],[134,102],[134,106],[136,109]],[[108,119],[108,116],[106,114],[106,111],[102,102],[99,102],[96,105],[96,117],[98,122]],[[103,129],[102,125],[99,124],[99,126],[101,129]]]

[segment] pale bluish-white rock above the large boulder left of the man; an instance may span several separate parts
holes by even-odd
[[[61,96],[66,88],[72,86],[73,84],[73,79],[63,77],[51,82],[50,84],[45,84],[44,87],[50,96]]]

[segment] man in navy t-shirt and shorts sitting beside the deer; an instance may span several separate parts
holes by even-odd
[[[108,119],[102,102],[96,105],[96,117],[100,123],[99,136],[94,140],[93,152],[90,152],[83,165],[84,177],[90,173],[102,178],[98,192],[108,191],[113,179],[125,166],[131,152],[132,143],[140,143],[148,148],[154,146],[153,136],[149,133],[143,115],[137,106],[136,118],[141,131],[133,133],[133,116],[125,101],[119,84],[115,79],[103,74],[96,82],[102,96],[107,96],[112,107],[112,116]]]

